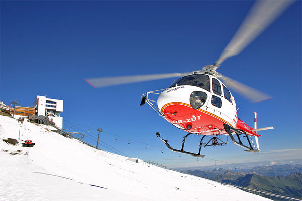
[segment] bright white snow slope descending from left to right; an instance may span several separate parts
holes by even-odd
[[[65,138],[0,115],[1,200],[268,200]],[[32,140],[34,147],[2,139]]]

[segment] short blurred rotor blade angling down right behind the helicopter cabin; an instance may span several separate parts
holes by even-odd
[[[238,81],[235,81],[229,77],[225,77],[221,75],[220,78],[228,87],[232,88],[236,92],[240,93],[247,99],[251,100],[253,103],[261,102],[263,100],[267,100],[272,98],[272,96],[267,95],[261,91],[258,91],[252,87],[249,87],[247,85],[244,85]]]

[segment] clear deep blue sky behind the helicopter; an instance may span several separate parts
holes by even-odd
[[[64,100],[65,127],[73,124],[86,132],[85,140],[96,143],[100,127],[107,145],[170,167],[213,165],[212,159],[243,163],[301,158],[301,1],[217,70],[273,96],[252,104],[233,92],[242,120],[253,126],[257,111],[259,128],[275,127],[260,133],[259,154],[244,152],[230,139],[224,147],[203,149],[208,159],[199,161],[167,150],[156,132],[176,148],[186,133],[139,104],[142,94],[166,88],[173,79],[99,89],[84,81],[200,70],[218,59],[253,3],[1,1],[0,100],[32,106],[37,95],[47,93]],[[186,142],[189,151],[198,144],[197,136]]]

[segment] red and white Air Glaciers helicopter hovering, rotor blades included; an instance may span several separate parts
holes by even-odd
[[[205,155],[200,153],[201,148],[226,144],[227,142],[220,138],[220,135],[226,135],[245,151],[260,152],[258,141],[260,135],[257,132],[274,127],[257,128],[256,112],[254,128],[239,119],[235,99],[228,87],[252,102],[270,99],[271,96],[226,77],[216,70],[226,59],[238,55],[293,2],[292,0],[256,1],[218,60],[213,65],[204,66],[201,70],[187,73],[89,78],[85,81],[99,88],[180,77],[167,88],[144,93],[140,104],[142,106],[147,103],[170,124],[188,132],[183,137],[181,149],[172,148],[168,140],[162,139],[159,132],[156,133],[156,136],[171,151],[204,157]],[[154,96],[157,96],[157,100],[153,99]],[[201,137],[197,153],[184,150],[185,141],[192,134]],[[210,140],[205,141],[205,136],[210,136]],[[243,143],[244,138],[245,143]]]

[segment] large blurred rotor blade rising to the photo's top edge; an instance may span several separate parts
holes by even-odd
[[[294,0],[258,0],[215,64],[219,66],[225,59],[238,55],[293,2]]]

